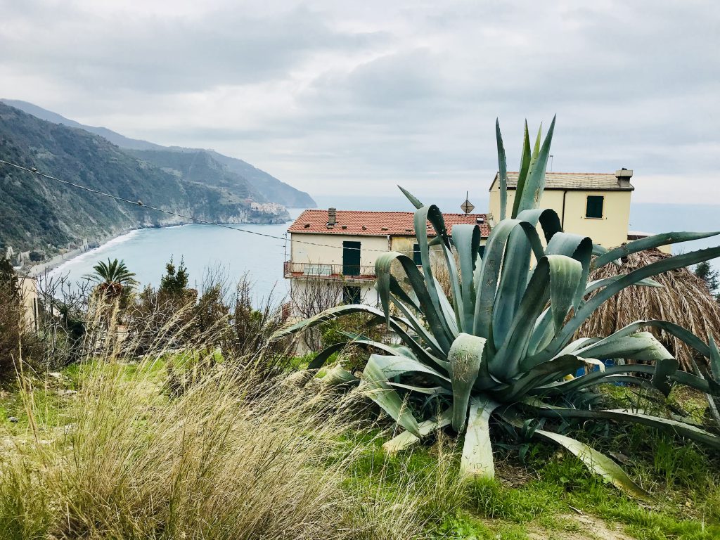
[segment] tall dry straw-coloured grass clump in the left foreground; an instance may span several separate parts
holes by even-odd
[[[386,489],[382,467],[354,481],[374,445],[356,393],[294,387],[258,354],[172,397],[176,343],[128,362],[112,328],[86,338],[66,426],[40,425],[24,395],[27,437],[0,451],[0,539],[410,539],[459,501],[450,467],[431,485],[407,474]]]

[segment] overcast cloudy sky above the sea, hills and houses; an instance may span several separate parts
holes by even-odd
[[[0,0],[0,96],[323,195],[485,194],[495,117],[554,171],[720,201],[716,1]]]

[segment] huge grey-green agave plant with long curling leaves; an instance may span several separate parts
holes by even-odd
[[[449,426],[456,433],[464,433],[462,473],[492,477],[490,419],[494,418],[564,446],[593,472],[632,495],[644,496],[644,490],[607,456],[533,422],[539,418],[580,418],[640,423],[720,449],[720,437],[685,418],[595,409],[592,400],[567,399],[591,395],[588,390],[592,387],[613,382],[652,387],[664,395],[673,384],[720,395],[720,353],[712,336],[705,343],[678,325],[638,320],[611,336],[574,339],[582,322],[621,289],[632,285],[657,287],[651,276],[720,256],[720,248],[665,258],[630,274],[595,282],[588,282],[591,267],[617,264],[618,258],[629,253],[718,233],[660,234],[610,251],[593,245],[590,238],[564,233],[556,212],[538,208],[554,124],[553,119],[542,145],[538,132],[531,150],[526,122],[510,212],[506,208],[505,149],[496,124],[500,221],[492,228],[484,256],[480,256],[477,225],[454,225],[450,236],[438,207],[423,205],[400,188],[417,209],[415,235],[422,269],[402,253],[383,253],[375,265],[382,310],[366,305],[333,307],[286,328],[282,334],[354,312],[372,315],[371,323],[384,320],[394,330],[402,341],[400,345],[348,336],[347,343],[320,352],[309,366],[320,368],[331,354],[349,343],[382,352],[369,356],[360,382],[366,395],[404,429],[384,445],[387,451],[408,447]],[[428,222],[436,233],[431,239],[426,232]],[[432,258],[440,258],[449,269],[450,297],[433,276]],[[394,266],[404,279],[391,272]],[[672,354],[651,333],[641,331],[649,326],[664,329],[707,356],[711,377],[679,371]],[[606,368],[599,359],[644,363]],[[572,377],[588,364],[599,369]],[[328,378],[333,382],[357,380],[339,366]],[[423,407],[427,403],[435,404],[435,410]]]

